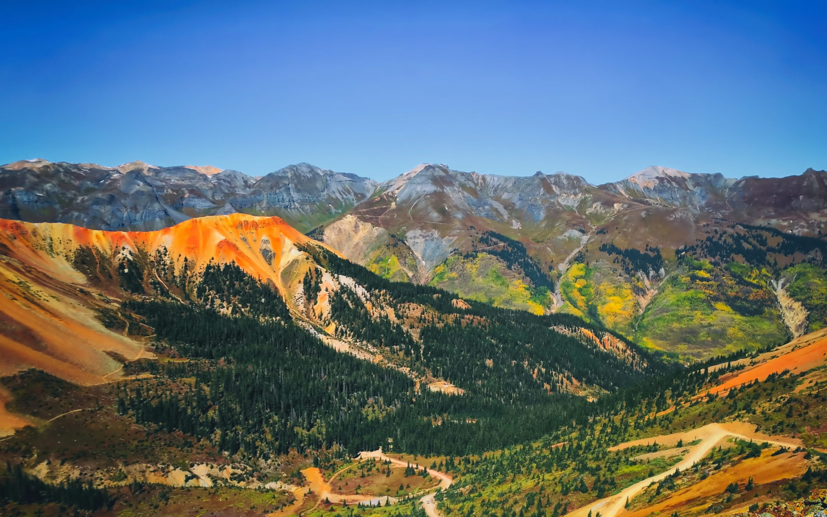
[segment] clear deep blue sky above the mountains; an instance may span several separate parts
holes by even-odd
[[[823,1],[6,0],[0,20],[0,163],[827,168]]]

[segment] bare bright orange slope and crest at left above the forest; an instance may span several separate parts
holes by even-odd
[[[243,214],[191,219],[151,232],[0,220],[0,375],[41,368],[93,384],[117,376],[121,365],[116,358],[144,353],[143,344],[128,337],[127,330],[109,330],[98,320],[100,310],[117,310],[123,292],[117,280],[92,282],[73,267],[81,248],[96,257],[94,279],[105,276],[101,264],[165,252],[176,270],[184,262],[189,271],[198,271],[210,261],[234,261],[274,285],[290,303],[285,284],[298,284],[310,267],[297,248],[308,243],[318,244],[278,217]],[[290,265],[290,273],[283,275]],[[129,322],[124,323],[128,329]]]

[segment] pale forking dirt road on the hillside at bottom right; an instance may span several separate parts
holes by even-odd
[[[670,468],[666,472],[661,472],[660,474],[656,474],[653,477],[648,477],[643,481],[638,481],[632,486],[628,486],[624,488],[624,490],[620,491],[618,494],[614,496],[605,497],[601,500],[596,500],[595,502],[591,503],[590,505],[585,505],[577,510],[571,511],[568,515],[571,517],[583,517],[587,515],[589,511],[592,512],[592,515],[596,515],[597,512],[600,512],[601,517],[615,517],[621,510],[624,510],[624,505],[626,504],[626,499],[629,498],[631,500],[639,491],[642,491],[644,488],[649,486],[652,482],[661,481],[667,476],[672,475],[676,472],[677,469],[681,469],[681,471],[686,470],[687,468],[692,467],[696,462],[699,462],[701,459],[705,458],[706,454],[710,452],[710,450],[715,447],[715,444],[718,443],[721,439],[724,439],[728,436],[745,439],[745,440],[753,440],[757,443],[770,443],[772,445],[776,445],[778,447],[786,447],[786,448],[796,448],[801,445],[801,443],[791,443],[791,442],[778,442],[772,439],[767,439],[762,435],[753,432],[749,432],[745,429],[743,425],[738,425],[739,423],[735,423],[736,425],[730,424],[709,424],[701,427],[700,429],[694,429],[691,431],[686,431],[685,433],[674,433],[674,434],[667,434],[662,436],[653,436],[650,438],[645,439],[638,439],[632,442],[622,443],[616,447],[611,448],[610,450],[619,450],[622,448],[632,447],[633,445],[643,445],[645,443],[665,443],[669,444],[671,442],[676,443],[678,439],[700,439],[700,443],[697,445],[692,445],[687,447],[690,449],[690,452],[686,454],[686,456],[681,460],[681,462],[677,463],[674,467]],[[730,429],[727,429],[729,427]],[[734,430],[735,427],[740,427],[742,432],[737,432]],[[754,429],[754,426],[753,426]]]

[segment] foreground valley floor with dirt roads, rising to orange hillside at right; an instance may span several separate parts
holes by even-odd
[[[107,486],[117,503],[94,515],[125,517],[209,512],[509,517],[516,515],[510,511],[537,511],[530,506],[543,500],[542,515],[568,510],[571,517],[696,517],[772,510],[777,501],[795,500],[810,487],[827,484],[818,481],[827,470],[827,330],[705,371],[713,376],[710,382],[691,393],[671,391],[665,409],[644,401],[609,420],[595,420],[588,429],[547,437],[530,449],[457,458],[457,466],[448,466],[454,458],[376,450],[353,459],[328,455],[318,466],[311,466],[311,456],[296,454],[266,472],[255,462],[234,462],[206,442],[188,443],[178,432],[150,432],[117,415],[111,384],[77,387],[27,372],[4,378],[0,421],[9,430],[35,427],[7,434],[0,441],[0,459],[22,458],[27,472],[45,481],[70,474]],[[624,420],[631,426],[623,434],[612,431]],[[613,438],[620,435],[628,439]],[[582,453],[575,452],[575,444]],[[541,467],[554,454],[562,458],[564,449],[574,462]],[[598,485],[609,476],[616,487],[600,496]],[[577,491],[564,488],[578,482]],[[554,501],[565,502],[563,512],[550,510]],[[7,505],[5,510],[61,515],[60,508],[65,506]]]

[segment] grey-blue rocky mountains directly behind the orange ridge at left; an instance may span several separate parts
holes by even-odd
[[[190,217],[278,215],[309,230],[375,192],[354,174],[296,164],[263,178],[212,166],[116,168],[15,162],[0,168],[0,217],[65,222],[95,230],[159,230]]]

